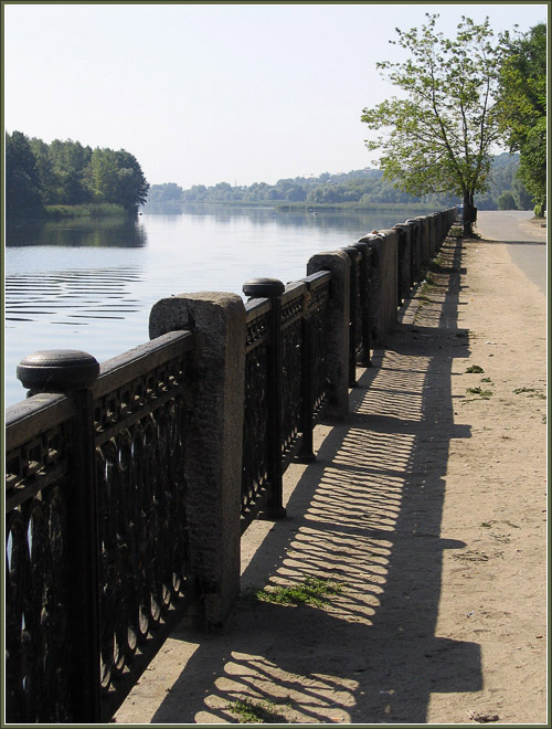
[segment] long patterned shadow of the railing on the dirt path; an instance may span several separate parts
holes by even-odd
[[[198,647],[150,722],[240,722],[240,699],[275,723],[424,723],[432,693],[481,688],[479,646],[436,635],[443,550],[465,547],[440,537],[450,440],[470,436],[452,394],[453,361],[468,355],[460,256],[447,240],[440,303],[405,315],[359,378],[352,414],[245,569],[227,627],[172,635]],[[343,585],[325,609],[247,598],[310,575]]]

